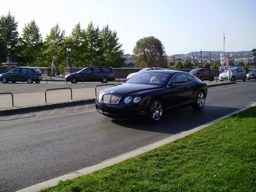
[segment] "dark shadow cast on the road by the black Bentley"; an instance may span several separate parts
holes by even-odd
[[[177,134],[188,131],[205,123],[211,122],[222,116],[228,115],[240,108],[228,108],[217,106],[204,106],[200,111],[191,107],[165,112],[162,120],[156,124],[149,124],[146,118],[141,119],[112,119],[112,123],[119,126],[149,132]]]

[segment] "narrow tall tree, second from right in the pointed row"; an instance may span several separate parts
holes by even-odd
[[[88,24],[88,27],[85,32],[85,39],[87,42],[86,60],[87,60],[88,66],[100,65],[100,57],[103,54],[103,49],[101,49],[100,37],[101,37],[101,31],[99,29],[99,26],[97,28],[94,28],[91,21]]]

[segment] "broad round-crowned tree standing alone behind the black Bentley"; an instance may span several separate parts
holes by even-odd
[[[154,36],[139,39],[133,53],[136,67],[167,67],[164,45]]]

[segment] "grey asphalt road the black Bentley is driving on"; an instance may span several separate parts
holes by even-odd
[[[210,122],[255,100],[256,81],[210,87],[204,109],[167,112],[158,124],[114,120],[94,104],[0,116],[0,191],[16,191]]]

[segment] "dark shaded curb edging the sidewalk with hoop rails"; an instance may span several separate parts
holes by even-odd
[[[49,108],[56,108],[56,107],[64,107],[69,105],[78,105],[83,103],[93,103],[95,99],[86,99],[86,100],[79,100],[79,101],[70,101],[70,102],[63,102],[63,103],[52,103],[52,104],[45,104],[45,105],[37,105],[32,107],[23,107],[17,109],[3,109],[0,110],[0,115],[6,115],[11,113],[24,113],[29,111],[36,111],[42,109],[49,109]]]

